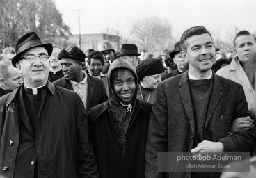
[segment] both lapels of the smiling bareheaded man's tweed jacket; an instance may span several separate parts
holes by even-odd
[[[221,86],[221,82],[218,79],[218,76],[214,72],[212,72],[214,77],[214,85],[211,90],[211,97],[209,98],[209,106],[207,108],[207,115],[205,120],[205,128],[207,127],[207,124],[211,118],[212,113],[214,113],[214,110],[218,104],[218,101],[221,99],[223,89]],[[189,119],[191,130],[193,135],[195,135],[195,120],[193,115],[193,105],[191,101],[191,94],[189,89],[189,75],[188,71],[186,71],[184,74],[182,74],[182,79],[179,81],[179,95],[182,97],[182,102],[184,104],[184,108],[186,111],[186,115]]]

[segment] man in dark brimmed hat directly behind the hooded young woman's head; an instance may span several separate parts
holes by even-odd
[[[120,58],[127,60],[136,69],[138,66],[138,47],[135,44],[122,44]]]

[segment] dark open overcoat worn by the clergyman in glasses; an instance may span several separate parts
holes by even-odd
[[[0,98],[0,177],[13,177],[16,161],[23,161],[16,159],[23,120],[17,99],[22,87]],[[77,93],[47,83],[35,138],[40,178],[98,177],[86,113]],[[24,171],[31,166],[28,163]]]

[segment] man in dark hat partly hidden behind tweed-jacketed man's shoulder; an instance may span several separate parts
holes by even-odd
[[[177,42],[174,46],[173,51],[170,51],[170,57],[173,58],[173,62],[177,65],[177,69],[169,74],[166,74],[165,76],[162,76],[162,78],[161,78],[162,81],[164,81],[165,79],[168,79],[172,76],[182,74],[184,65],[186,65],[186,63],[188,63],[188,62],[186,60],[184,60],[184,58],[182,58],[180,51],[182,51],[182,49],[180,48],[179,42]]]

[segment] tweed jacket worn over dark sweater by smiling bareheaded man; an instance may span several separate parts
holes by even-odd
[[[232,122],[249,116],[243,87],[214,74],[214,84],[205,117],[203,140],[223,143],[225,152],[249,152],[255,147],[256,127],[228,136]],[[147,178],[164,177],[157,172],[157,152],[191,152],[195,139],[195,118],[189,89],[188,72],[159,84],[152,108],[145,151]],[[191,172],[169,172],[169,177],[191,177]],[[219,177],[212,172],[211,177]]]

